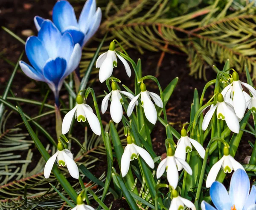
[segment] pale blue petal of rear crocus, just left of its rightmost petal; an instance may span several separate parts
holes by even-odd
[[[87,0],[80,14],[78,25],[81,32],[87,33],[90,22],[93,21],[93,14],[96,12],[96,1]]]

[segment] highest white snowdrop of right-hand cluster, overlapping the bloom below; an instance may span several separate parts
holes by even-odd
[[[244,112],[247,107],[242,85],[250,91],[254,98],[256,98],[256,90],[249,84],[241,82],[239,80],[239,75],[237,72],[233,72],[232,76],[233,82],[225,87],[221,94],[223,95],[225,101],[232,101],[236,116],[239,119],[242,119],[244,117]]]

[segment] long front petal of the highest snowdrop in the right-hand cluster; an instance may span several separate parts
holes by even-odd
[[[234,102],[234,109],[236,112],[237,117],[243,118],[244,112],[246,110],[246,101],[244,98],[243,90],[241,89],[241,84],[239,81],[233,82],[233,102]]]

